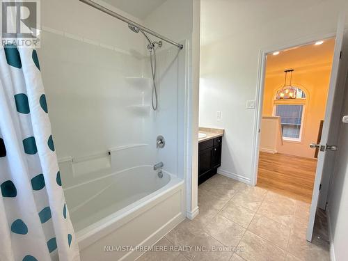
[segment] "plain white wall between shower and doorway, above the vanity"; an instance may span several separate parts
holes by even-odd
[[[226,131],[219,171],[251,182],[256,111],[246,101],[256,99],[260,50],[334,33],[339,7],[329,0],[202,1],[199,120]]]

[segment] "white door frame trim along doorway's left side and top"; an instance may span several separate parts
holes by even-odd
[[[264,98],[264,79],[266,74],[266,58],[267,54],[272,54],[283,49],[290,49],[292,47],[299,47],[302,45],[309,45],[319,40],[325,40],[329,38],[335,38],[336,31],[331,33],[317,33],[314,35],[308,35],[303,38],[298,38],[292,42],[288,42],[283,45],[273,45],[260,49],[259,52],[259,65],[258,65],[258,79],[257,79],[257,92],[256,92],[256,106],[255,106],[255,121],[253,129],[253,157],[252,157],[252,173],[251,173],[251,185],[256,186],[258,182],[258,164],[259,164],[259,150],[260,150],[260,129],[262,121],[262,109]]]

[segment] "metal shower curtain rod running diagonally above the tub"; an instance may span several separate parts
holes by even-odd
[[[145,26],[142,26],[141,24],[133,22],[131,19],[128,19],[122,15],[119,15],[118,13],[115,13],[115,12],[109,10],[108,8],[105,8],[104,6],[100,6],[100,4],[98,4],[98,3],[95,3],[95,2],[90,1],[90,0],[79,0],[79,1],[86,3],[86,4],[88,4],[88,6],[92,6],[92,7],[96,8],[96,9],[98,9],[98,10],[100,10],[108,15],[111,15],[112,17],[116,17],[117,19],[120,19],[121,21],[123,21],[127,24],[132,24],[132,25],[138,27],[139,29],[145,31],[146,33],[150,33],[151,35],[154,35],[155,37],[157,37],[161,40],[164,40],[165,42],[168,42],[171,45],[175,45],[179,49],[184,48],[183,45],[180,45],[179,43],[174,42],[171,39],[168,39],[168,38],[164,37],[163,35],[160,35],[159,33],[156,33],[155,31],[152,31],[152,30],[146,28]]]

